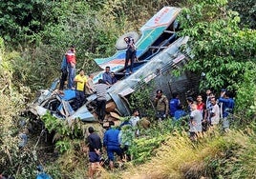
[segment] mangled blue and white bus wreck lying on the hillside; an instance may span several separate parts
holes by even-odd
[[[197,76],[184,72],[179,77],[172,70],[184,66],[190,58],[187,50],[181,50],[188,37],[178,37],[176,20],[181,9],[164,7],[140,28],[141,35],[128,32],[117,40],[117,52],[109,58],[95,59],[102,69],[96,72],[94,83],[102,78],[105,67],[110,67],[117,76],[117,83],[108,89],[107,105],[114,104],[115,112],[120,116],[131,115],[127,98],[144,84],[154,81],[155,87],[162,89],[168,98],[173,92],[184,93],[188,89],[196,89]],[[134,72],[124,71],[126,45],[125,36],[132,36],[136,41],[138,62],[134,63]],[[40,90],[40,95],[32,102],[28,111],[35,116],[42,116],[47,111],[60,119],[80,119],[84,122],[96,121],[96,94],[86,98],[82,107],[74,110],[75,89],[64,89],[64,95],[55,92],[59,80],[53,81],[50,89]]]

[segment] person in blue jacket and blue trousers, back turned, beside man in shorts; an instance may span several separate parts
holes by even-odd
[[[115,123],[109,122],[109,129],[105,131],[103,138],[103,147],[107,149],[110,169],[114,169],[114,153],[118,156],[121,155],[121,149],[119,146],[118,134],[119,130],[114,128]]]

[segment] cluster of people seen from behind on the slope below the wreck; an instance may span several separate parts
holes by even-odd
[[[90,178],[94,177],[96,170],[104,163],[104,160],[101,160],[103,151],[107,153],[111,170],[114,169],[115,153],[123,162],[131,160],[129,148],[132,145],[133,138],[139,135],[139,129],[137,128],[139,120],[139,109],[134,109],[133,115],[124,120],[119,126],[115,127],[114,121],[109,121],[103,140],[96,134],[93,127],[89,127],[87,144],[89,147]]]

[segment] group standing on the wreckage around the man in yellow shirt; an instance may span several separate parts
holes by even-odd
[[[75,107],[79,109],[84,103],[85,98],[96,93],[97,114],[99,120],[103,121],[105,117],[106,92],[110,86],[117,83],[115,72],[110,71],[110,67],[106,67],[102,75],[94,84],[94,75],[86,75],[84,70],[79,70],[75,75],[75,46],[71,46],[65,53],[61,63],[61,77],[58,92],[64,94],[65,81],[68,81],[67,89],[75,89]]]

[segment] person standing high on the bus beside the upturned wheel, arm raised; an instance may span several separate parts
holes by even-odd
[[[132,37],[125,37],[124,38],[125,43],[127,44],[127,50],[125,53],[125,64],[124,64],[124,72],[127,71],[128,63],[130,61],[130,71],[129,73],[133,73],[134,68],[134,61],[136,59],[136,46],[135,41]]]

